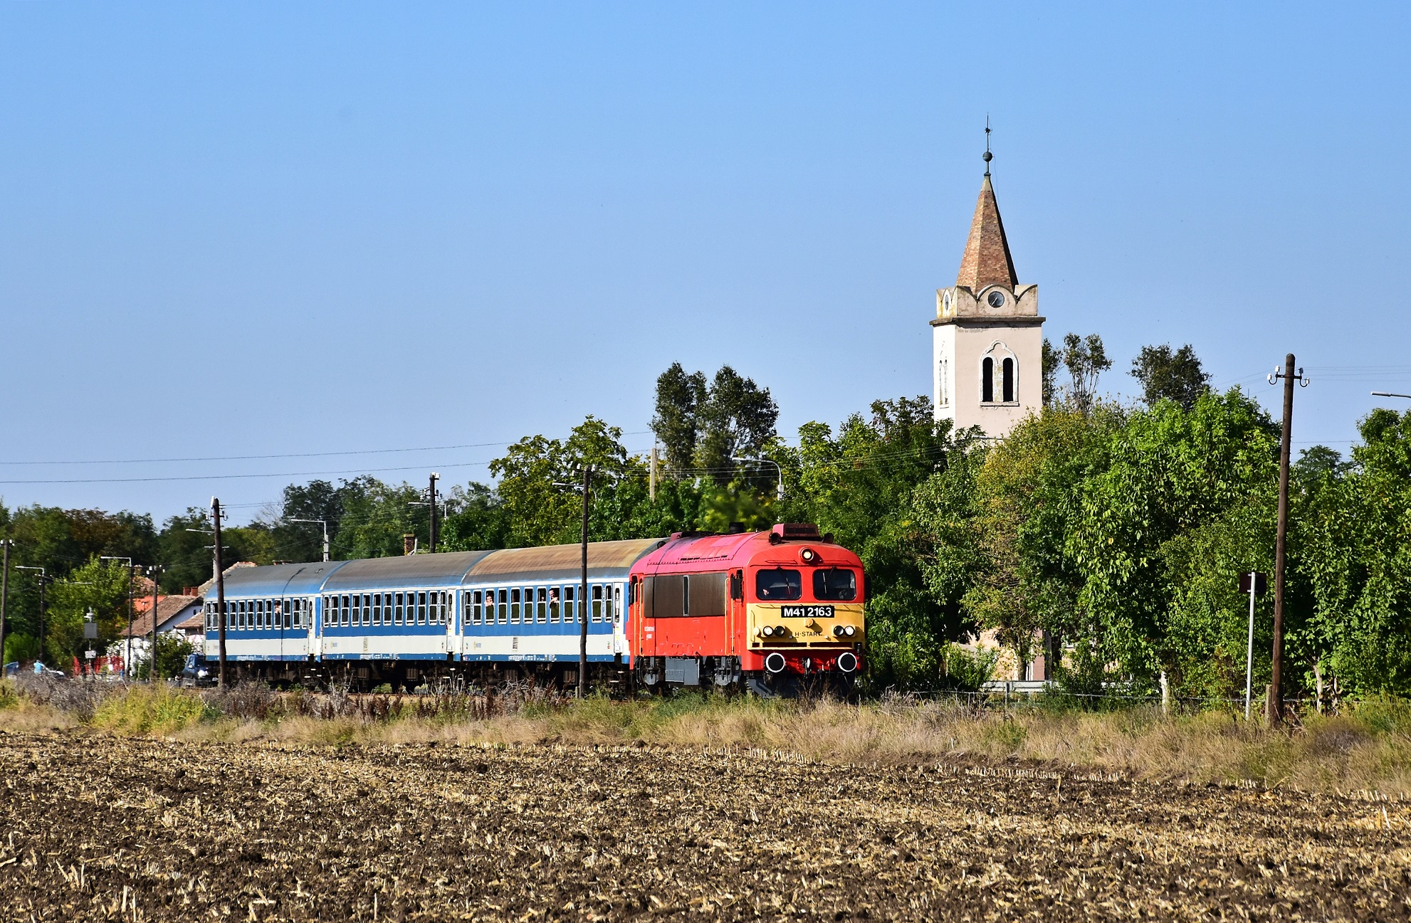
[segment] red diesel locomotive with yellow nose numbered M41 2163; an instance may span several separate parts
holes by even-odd
[[[638,559],[629,581],[638,687],[845,690],[862,666],[862,562],[817,526],[677,533]]]

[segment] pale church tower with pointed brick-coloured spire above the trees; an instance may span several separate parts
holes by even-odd
[[[986,127],[985,181],[959,277],[935,292],[931,377],[935,419],[1002,439],[1043,406],[1044,319],[1038,286],[1020,285],[1015,272],[989,161]]]

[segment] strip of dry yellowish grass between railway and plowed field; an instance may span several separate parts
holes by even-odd
[[[906,697],[861,706],[708,694],[581,703],[521,697],[468,706],[447,697],[436,707],[412,697],[371,708],[365,703],[332,708],[323,699],[299,696],[298,707],[289,707],[258,689],[222,697],[128,687],[114,689],[85,716],[11,690],[8,697],[0,693],[0,728],[32,732],[86,724],[116,734],[234,744],[745,747],[832,764],[1022,761],[1153,782],[1254,780],[1305,792],[1411,796],[1411,706],[1397,701],[1362,703],[1340,716],[1312,716],[1271,731],[1230,713],[1167,718],[1154,707],[1003,711]]]

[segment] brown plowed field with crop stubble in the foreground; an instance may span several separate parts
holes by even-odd
[[[1411,810],[656,748],[0,734],[0,919],[1407,919]]]

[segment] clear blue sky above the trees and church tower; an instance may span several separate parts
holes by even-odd
[[[930,388],[995,188],[1102,387],[1292,350],[1294,439],[1411,391],[1400,4],[0,3],[8,505],[253,515],[291,473],[484,480],[672,361],[793,433]],[[1411,402],[1404,402],[1411,404]],[[17,480],[268,474],[227,480]],[[330,474],[330,477],[334,477]]]

